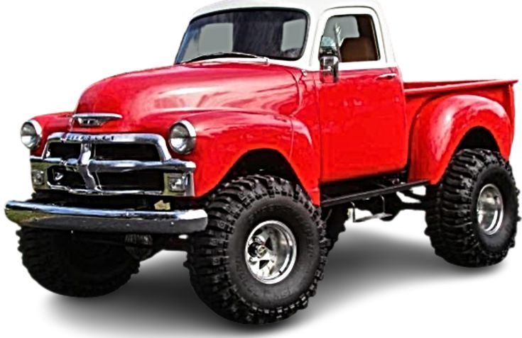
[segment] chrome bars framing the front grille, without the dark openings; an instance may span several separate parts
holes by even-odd
[[[52,143],[64,142],[80,144],[80,157],[78,159],[60,159],[49,157],[49,147]],[[131,161],[131,160],[97,160],[91,159],[92,145],[97,144],[148,144],[156,146],[161,161]],[[77,195],[102,195],[102,196],[119,196],[119,195],[148,195],[148,196],[178,196],[193,197],[195,196],[194,171],[196,165],[194,162],[181,161],[173,159],[168,151],[167,143],[161,135],[156,134],[77,134],[77,133],[54,133],[48,137],[42,157],[31,157],[31,166],[33,169],[46,170],[49,167],[59,166],[65,167],[70,171],[75,171],[82,176],[85,181],[85,188],[77,189],[67,186],[53,186],[46,177],[45,186],[35,186],[36,190],[54,190],[66,191]],[[106,191],[98,186],[97,174],[99,173],[118,173],[129,171],[143,170],[161,170],[165,171],[164,176],[171,172],[182,172],[187,175],[187,190],[185,193],[174,193],[168,191],[168,187],[164,187],[164,191]]]

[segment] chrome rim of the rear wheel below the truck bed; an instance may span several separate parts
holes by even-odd
[[[504,199],[497,186],[487,184],[479,193],[477,221],[480,229],[488,236],[495,235],[504,220]]]

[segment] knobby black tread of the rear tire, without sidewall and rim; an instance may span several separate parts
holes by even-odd
[[[511,166],[501,154],[489,150],[462,150],[450,162],[442,182],[428,188],[425,233],[430,237],[435,254],[452,264],[467,267],[499,264],[515,245],[516,230],[504,249],[499,252],[486,249],[475,234],[472,215],[467,208],[472,202],[474,183],[482,171],[491,166],[509,172],[515,186]],[[518,199],[516,203],[518,210]]]

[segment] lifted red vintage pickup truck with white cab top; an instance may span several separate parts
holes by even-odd
[[[349,217],[425,210],[443,259],[502,261],[515,83],[403,83],[373,1],[220,2],[195,14],[173,67],[25,123],[35,193],[6,215],[55,293],[104,295],[185,250],[215,312],[276,322],[308,305]]]

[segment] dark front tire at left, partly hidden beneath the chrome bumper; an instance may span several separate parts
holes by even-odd
[[[112,293],[138,272],[139,261],[124,245],[85,242],[71,232],[22,227],[18,249],[23,265],[41,286],[72,297]],[[89,239],[92,240],[92,235]],[[122,239],[123,243],[123,239]]]

